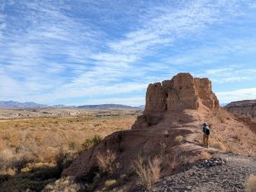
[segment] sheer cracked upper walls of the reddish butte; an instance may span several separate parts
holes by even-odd
[[[171,80],[149,84],[143,117],[138,117],[133,128],[156,125],[165,113],[183,109],[218,108],[218,98],[212,92],[212,82],[193,78],[190,73],[178,73]]]

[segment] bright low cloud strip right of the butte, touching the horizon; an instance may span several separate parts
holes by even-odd
[[[220,91],[216,95],[221,103],[250,100],[256,98],[256,88]]]

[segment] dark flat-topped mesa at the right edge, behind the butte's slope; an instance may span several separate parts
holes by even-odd
[[[230,113],[256,120],[256,100],[230,102],[224,108]]]

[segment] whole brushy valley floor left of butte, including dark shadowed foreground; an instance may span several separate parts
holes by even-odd
[[[13,176],[2,183],[5,191],[42,189],[60,177],[62,169],[84,150],[85,141],[90,141],[86,143],[90,148],[100,141],[99,137],[129,129],[135,119],[133,115],[95,114],[0,120],[0,174]],[[42,177],[40,182],[38,175]]]

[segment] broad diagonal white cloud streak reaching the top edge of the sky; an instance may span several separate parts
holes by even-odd
[[[158,7],[160,14],[147,15],[141,29],[128,32],[125,38],[108,44],[113,55],[136,55],[141,58],[156,49],[157,45],[171,44],[178,38],[191,36],[213,21],[218,21],[218,6],[195,1],[183,9]],[[150,19],[149,19],[150,18]],[[222,20],[222,19],[221,19]]]

